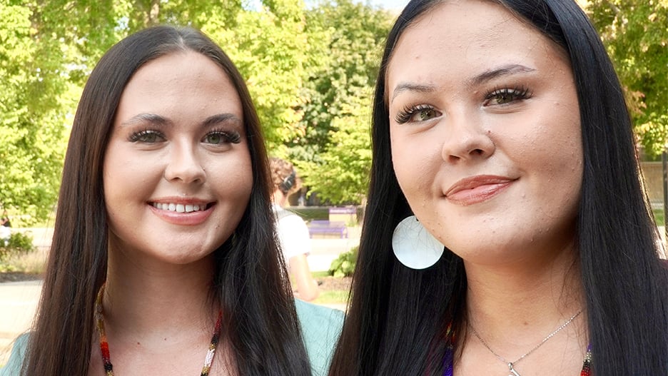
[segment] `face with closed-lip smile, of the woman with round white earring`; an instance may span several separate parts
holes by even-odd
[[[400,37],[386,93],[400,187],[450,250],[508,263],[572,245],[580,113],[556,44],[490,1],[446,1]]]

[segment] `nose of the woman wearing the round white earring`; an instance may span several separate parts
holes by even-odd
[[[482,127],[475,116],[451,114],[444,127],[441,156],[443,161],[459,161],[489,158],[495,151],[491,132]]]

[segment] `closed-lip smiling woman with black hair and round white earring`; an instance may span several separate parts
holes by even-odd
[[[622,88],[572,0],[413,0],[385,46],[330,375],[665,375]]]

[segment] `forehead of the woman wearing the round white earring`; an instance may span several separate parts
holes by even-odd
[[[445,1],[422,14],[400,36],[390,59],[386,85],[398,78],[470,76],[493,65],[535,66],[567,61],[547,36],[492,1]],[[533,67],[532,67],[533,68]]]

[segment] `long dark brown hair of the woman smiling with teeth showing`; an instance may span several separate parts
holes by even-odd
[[[253,188],[234,235],[214,255],[212,293],[238,375],[310,375],[283,258],[273,238],[269,169],[246,84],[228,56],[194,29],[157,26],[113,46],[93,69],[74,118],[54,238],[24,375],[88,375],[98,289],[106,279],[108,225],[102,164],[123,88],[143,64],[195,51],[214,61],[241,98]],[[100,370],[102,372],[102,370]]]

